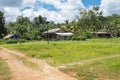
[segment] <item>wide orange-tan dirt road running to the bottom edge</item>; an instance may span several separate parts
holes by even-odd
[[[26,66],[16,56],[37,64],[39,68],[34,69]],[[75,80],[57,68],[48,65],[45,61],[27,57],[17,51],[2,48],[0,57],[5,59],[11,68],[12,80]]]

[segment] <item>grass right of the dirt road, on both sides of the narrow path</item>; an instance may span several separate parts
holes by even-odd
[[[90,39],[87,41],[34,41],[20,44],[4,44],[28,56],[44,59],[50,65],[59,66],[71,62],[120,54],[120,38]],[[62,69],[77,80],[120,79],[120,58],[95,61],[85,65],[68,66]]]

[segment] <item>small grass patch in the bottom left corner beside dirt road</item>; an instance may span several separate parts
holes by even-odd
[[[3,59],[0,58],[0,80],[10,80],[10,69]]]

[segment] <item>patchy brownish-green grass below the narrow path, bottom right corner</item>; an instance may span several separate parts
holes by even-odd
[[[119,80],[120,57],[96,61],[92,64],[69,66],[62,71],[76,77],[77,80]]]

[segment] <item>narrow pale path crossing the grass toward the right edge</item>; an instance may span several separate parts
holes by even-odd
[[[56,68],[63,69],[63,68],[67,68],[68,66],[73,66],[73,65],[90,64],[90,63],[93,63],[93,62],[96,62],[96,61],[102,61],[102,60],[111,59],[111,58],[115,58],[115,57],[120,57],[120,54],[114,54],[114,55],[110,55],[110,56],[92,58],[92,59],[82,60],[80,62],[67,63],[67,64],[63,64],[61,66],[58,66]]]

